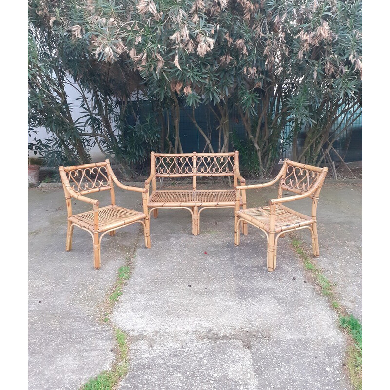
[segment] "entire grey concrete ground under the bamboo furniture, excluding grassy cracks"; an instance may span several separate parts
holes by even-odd
[[[248,191],[249,207],[275,194]],[[138,239],[138,224],[120,229],[103,238],[102,266],[94,270],[87,232],[75,228],[65,252],[62,188],[29,189],[28,202],[29,389],[78,389],[111,367],[114,333],[99,318],[135,246],[133,273],[111,316],[130,340],[119,389],[352,389],[346,337],[291,236],[279,240],[270,273],[262,232],[250,226],[234,247],[233,209],[202,212],[196,237],[186,210],[163,210],[151,220],[151,249]],[[118,190],[117,204],[141,210],[137,193]],[[326,181],[318,221],[321,256],[313,261],[362,319],[361,181]],[[295,235],[310,249],[309,231]]]

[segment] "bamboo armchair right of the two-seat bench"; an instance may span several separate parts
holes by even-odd
[[[286,232],[306,228],[312,234],[313,254],[318,257],[320,252],[317,234],[317,204],[327,172],[328,168],[300,164],[286,158],[280,172],[272,181],[264,184],[238,186],[235,207],[234,245],[237,246],[240,243],[238,225],[241,221],[246,221],[262,230],[267,236],[267,268],[268,271],[274,271],[278,238],[283,237]],[[271,199],[268,206],[240,210],[240,191],[268,187],[279,180],[277,198]],[[299,195],[283,197],[283,191],[290,191]],[[304,198],[312,199],[311,216],[298,213],[284,205],[284,203]]]

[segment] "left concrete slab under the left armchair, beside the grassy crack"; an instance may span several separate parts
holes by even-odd
[[[109,199],[108,192],[98,194],[102,201],[104,195]],[[126,195],[117,191],[118,204],[141,210],[140,196]],[[82,202],[74,203],[84,211]],[[105,236],[101,269],[95,270],[87,232],[75,228],[73,249],[65,251],[62,188],[31,188],[28,204],[28,388],[78,389],[114,361],[114,334],[99,323],[99,307],[136,244],[139,226]]]

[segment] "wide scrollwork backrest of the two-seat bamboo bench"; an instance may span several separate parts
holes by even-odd
[[[233,176],[234,153],[155,154],[156,177]]]

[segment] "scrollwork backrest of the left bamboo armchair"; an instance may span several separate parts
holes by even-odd
[[[112,188],[106,165],[65,167],[65,175],[71,188],[81,195]]]

